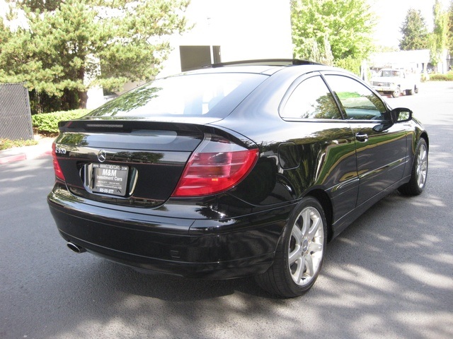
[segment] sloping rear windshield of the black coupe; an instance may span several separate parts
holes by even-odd
[[[226,117],[268,76],[209,73],[173,76],[131,90],[87,117]]]

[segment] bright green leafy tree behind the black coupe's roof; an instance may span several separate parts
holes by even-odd
[[[296,58],[328,60],[328,44],[335,63],[372,52],[376,20],[366,0],[292,0],[291,19]]]

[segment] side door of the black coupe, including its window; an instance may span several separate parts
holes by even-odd
[[[324,76],[355,135],[359,206],[403,177],[405,126],[383,124],[386,105],[360,81],[340,74]]]

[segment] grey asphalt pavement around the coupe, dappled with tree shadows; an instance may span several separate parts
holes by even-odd
[[[297,299],[74,254],[47,208],[51,157],[0,165],[0,338],[453,338],[453,83],[386,100],[430,133],[427,187],[350,225]]]

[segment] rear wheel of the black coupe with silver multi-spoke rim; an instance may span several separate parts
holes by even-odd
[[[283,230],[273,266],[258,275],[256,282],[272,295],[303,295],[318,278],[326,239],[326,216],[321,204],[315,198],[303,198]]]

